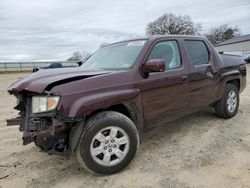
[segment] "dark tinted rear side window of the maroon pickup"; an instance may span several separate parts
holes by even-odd
[[[191,63],[195,65],[208,64],[209,53],[203,41],[186,40],[187,48]]]

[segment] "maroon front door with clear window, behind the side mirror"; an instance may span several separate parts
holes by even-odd
[[[186,63],[182,61],[177,40],[159,41],[148,60],[164,59],[166,71],[150,73],[141,82],[143,113],[147,127],[183,116],[188,108]]]

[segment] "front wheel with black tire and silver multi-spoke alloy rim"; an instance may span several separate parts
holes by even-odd
[[[139,134],[125,115],[106,111],[86,123],[77,147],[81,166],[99,174],[113,174],[126,167],[139,146]]]

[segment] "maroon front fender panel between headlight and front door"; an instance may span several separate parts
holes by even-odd
[[[132,71],[125,71],[95,76],[56,86],[52,92],[61,96],[58,109],[63,117],[84,117],[95,110],[138,98],[140,90],[133,75]]]

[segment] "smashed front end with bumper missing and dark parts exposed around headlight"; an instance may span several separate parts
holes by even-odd
[[[14,109],[19,111],[19,117],[7,120],[7,125],[20,125],[19,130],[23,132],[23,145],[34,142],[49,154],[70,155],[72,153],[76,143],[72,144],[69,136],[73,134],[72,131],[75,131],[76,122],[80,120],[65,119],[56,109],[33,113],[32,98],[38,96],[36,93],[26,91],[22,93],[9,91],[9,93],[17,98],[18,102]],[[44,97],[48,95],[45,94]]]

